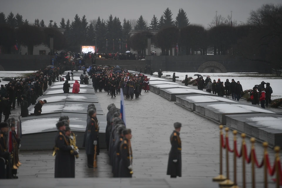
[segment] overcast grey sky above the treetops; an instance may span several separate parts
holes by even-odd
[[[207,26],[218,14],[226,17],[232,13],[232,19],[245,22],[251,9],[257,9],[264,3],[281,3],[281,0],[1,0],[0,12],[7,16],[11,11],[19,12],[23,19],[33,23],[35,19],[43,19],[48,25],[49,20],[56,21],[59,26],[61,18],[73,20],[75,14],[83,15],[89,21],[100,18],[107,20],[112,14],[120,20],[138,19],[140,15],[150,23],[155,14],[158,19],[169,7],[175,20],[178,9],[186,11],[191,23]]]

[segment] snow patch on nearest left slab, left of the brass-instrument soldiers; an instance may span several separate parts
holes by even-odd
[[[58,122],[58,120],[58,118],[39,118],[22,121],[22,133],[31,134],[44,132],[44,130],[48,129],[56,129],[56,123]]]

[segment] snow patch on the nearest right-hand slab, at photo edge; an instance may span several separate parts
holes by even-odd
[[[247,119],[256,122],[257,125],[282,130],[282,117],[250,117]],[[271,124],[269,122],[271,122]]]

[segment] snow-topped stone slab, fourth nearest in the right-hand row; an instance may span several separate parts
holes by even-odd
[[[204,92],[202,90],[197,89],[189,89],[189,88],[168,88],[168,89],[160,89],[160,95],[170,101],[176,101],[177,95],[211,95],[208,92]]]

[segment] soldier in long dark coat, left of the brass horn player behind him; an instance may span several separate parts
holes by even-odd
[[[74,149],[70,146],[66,136],[66,125],[63,121],[56,124],[58,132],[55,137],[56,157],[55,157],[55,178],[68,178],[71,177],[70,168],[70,151]]]

